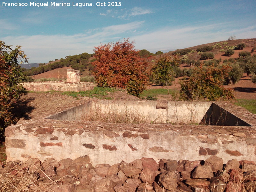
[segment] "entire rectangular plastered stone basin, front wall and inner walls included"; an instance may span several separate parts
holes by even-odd
[[[226,103],[225,103],[226,104]],[[20,120],[5,129],[8,161],[30,157],[44,161],[76,159],[87,155],[92,165],[132,162],[148,157],[206,160],[219,156],[224,163],[236,158],[256,159],[255,116],[230,104],[212,102],[108,101],[88,99],[82,105],[41,119]],[[86,116],[112,109],[136,112],[143,124],[82,121]],[[237,115],[237,111],[243,114]],[[167,122],[167,124],[166,124]],[[154,124],[157,123],[157,124]],[[160,124],[161,123],[161,124]],[[200,125],[198,125],[200,124]]]

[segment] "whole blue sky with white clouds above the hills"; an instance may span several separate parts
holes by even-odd
[[[28,3],[28,6],[3,6]],[[130,38],[136,49],[168,52],[215,41],[256,38],[255,0],[121,0],[121,6],[97,6],[93,0],[1,0],[0,40],[20,45],[30,63],[67,55],[93,53],[93,48]],[[70,6],[50,6],[51,2]],[[76,3],[94,6],[76,7]],[[118,4],[118,3],[117,3]]]

